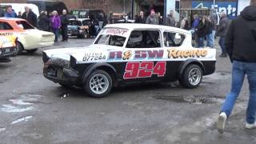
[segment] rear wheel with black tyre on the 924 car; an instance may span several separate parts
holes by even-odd
[[[189,65],[184,70],[182,77],[179,79],[182,86],[193,89],[200,85],[202,82],[202,69],[198,65]]]

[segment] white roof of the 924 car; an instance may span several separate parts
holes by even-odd
[[[191,34],[188,30],[183,30],[173,26],[161,26],[161,25],[150,25],[150,24],[139,24],[139,23],[118,23],[118,24],[110,24],[106,25],[106,28],[121,28],[126,30],[134,30],[134,29],[163,29],[163,30],[174,30],[179,31],[186,34]]]

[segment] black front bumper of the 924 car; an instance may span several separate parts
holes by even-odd
[[[77,70],[65,68],[62,66],[54,66],[45,64],[43,75],[55,83],[66,84],[69,86],[78,85],[79,74]]]

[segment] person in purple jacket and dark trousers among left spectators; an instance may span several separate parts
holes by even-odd
[[[58,33],[59,29],[61,28],[61,18],[59,18],[58,12],[56,10],[54,10],[51,14],[50,27],[55,34],[54,42],[58,42]]]

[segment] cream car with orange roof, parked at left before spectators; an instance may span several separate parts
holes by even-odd
[[[0,33],[18,37],[18,54],[23,50],[34,53],[38,48],[54,45],[54,34],[34,28],[21,18],[0,18]]]

